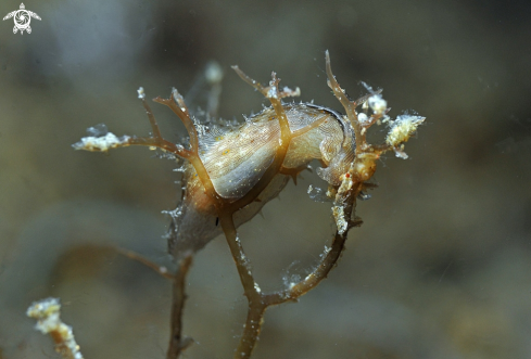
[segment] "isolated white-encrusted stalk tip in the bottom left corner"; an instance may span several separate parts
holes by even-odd
[[[55,342],[55,350],[63,358],[83,359],[79,345],[77,345],[72,332],[72,326],[61,321],[60,310],[59,298],[47,298],[34,302],[27,309],[26,315],[29,318],[37,319],[36,330],[42,334],[50,334]]]

